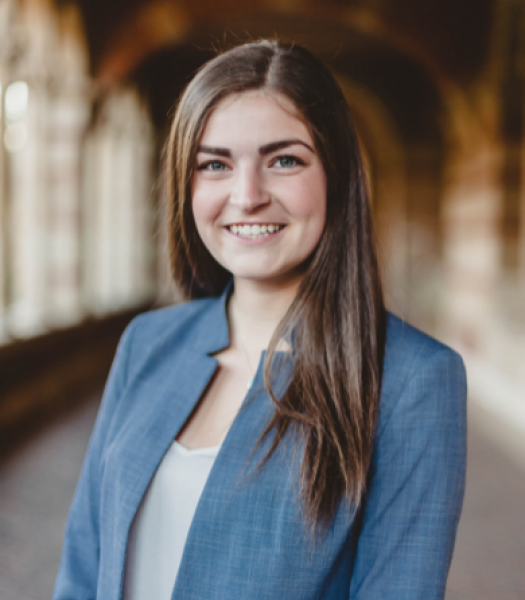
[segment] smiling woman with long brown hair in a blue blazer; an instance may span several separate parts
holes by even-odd
[[[298,46],[216,57],[182,95],[168,173],[192,301],[122,338],[55,600],[443,598],[463,364],[385,313],[335,80]]]

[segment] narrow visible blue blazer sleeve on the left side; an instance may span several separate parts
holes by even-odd
[[[106,383],[66,522],[53,600],[95,600],[100,527],[100,475],[103,449],[115,407],[124,389],[136,320],[124,332]]]

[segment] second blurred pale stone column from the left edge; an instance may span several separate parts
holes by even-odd
[[[60,15],[47,115],[47,304],[51,327],[78,321],[80,297],[80,160],[90,110],[87,52],[72,7]],[[51,58],[51,57],[50,57]]]

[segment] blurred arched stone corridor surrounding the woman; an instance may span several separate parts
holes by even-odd
[[[0,0],[0,600],[50,597],[118,338],[176,300],[173,104],[274,35],[347,96],[388,307],[467,364],[447,600],[525,598],[525,2]]]

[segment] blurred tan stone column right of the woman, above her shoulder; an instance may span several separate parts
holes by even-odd
[[[449,157],[442,205],[441,329],[460,348],[479,350],[493,319],[501,253],[500,168],[500,150],[489,140]]]

